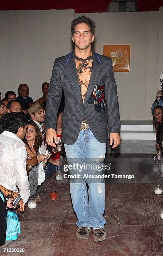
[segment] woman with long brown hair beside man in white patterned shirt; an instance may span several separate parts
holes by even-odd
[[[25,136],[25,145],[27,149],[27,159],[29,159],[29,152],[37,157],[37,165],[31,166],[31,170],[28,171],[29,183],[30,183],[30,197],[37,191],[37,186],[44,182],[44,169],[47,165],[47,160],[51,154],[41,154],[40,146],[42,144],[41,131],[34,121],[28,122],[28,129]]]

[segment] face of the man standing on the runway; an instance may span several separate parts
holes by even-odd
[[[94,41],[89,26],[86,23],[79,23],[75,26],[75,32],[72,36],[72,41],[77,48],[84,50],[87,49],[91,42]]]

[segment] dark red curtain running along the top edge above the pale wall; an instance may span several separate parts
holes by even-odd
[[[132,0],[131,0],[132,1]],[[75,13],[105,12],[111,0],[1,0],[0,10],[49,10],[69,9]],[[159,11],[163,0],[138,0],[139,11]]]

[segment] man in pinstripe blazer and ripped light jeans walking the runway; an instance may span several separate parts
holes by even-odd
[[[62,89],[65,96],[62,142],[68,164],[90,162],[104,163],[109,125],[110,144],[120,143],[120,118],[117,87],[111,59],[96,54],[91,49],[95,23],[80,16],[71,24],[72,53],[54,61],[46,105],[47,143],[57,143],[56,120]],[[54,143],[55,142],[55,143]],[[92,160],[93,159],[93,160]],[[100,160],[98,160],[100,159]],[[98,160],[98,161],[97,161]],[[73,174],[75,170],[71,170]],[[96,172],[96,171],[95,171]],[[92,228],[94,241],[104,241],[106,232],[103,217],[105,209],[105,184],[103,179],[92,182],[84,174],[94,170],[80,170],[80,181],[71,180],[70,193],[77,214],[77,238],[87,239]],[[88,184],[88,191],[86,187]]]

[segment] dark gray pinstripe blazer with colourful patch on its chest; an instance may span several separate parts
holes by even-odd
[[[109,124],[109,133],[120,133],[119,103],[112,61],[94,51],[92,53],[93,67],[84,103],[77,77],[74,51],[54,61],[46,102],[45,129],[55,129],[56,127],[57,111],[63,89],[65,107],[62,142],[69,145],[73,145],[77,141],[84,115],[99,142],[107,141],[107,123]],[[104,105],[99,104],[99,108],[96,108],[97,104],[94,104],[94,97],[99,95],[99,100],[97,100],[99,103],[102,100],[102,91],[104,91],[105,97],[105,112]],[[94,95],[93,92],[95,92]],[[97,101],[95,100],[95,103]]]

